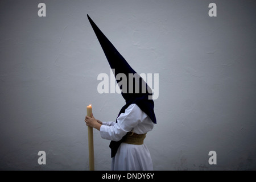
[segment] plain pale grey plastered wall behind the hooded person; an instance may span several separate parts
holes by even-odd
[[[138,73],[159,73],[158,124],[145,140],[155,170],[256,169],[255,5],[1,1],[0,169],[87,170],[86,105],[114,121],[125,104],[97,92],[110,68],[86,14]],[[110,169],[109,141],[97,130],[94,156],[96,170]]]

